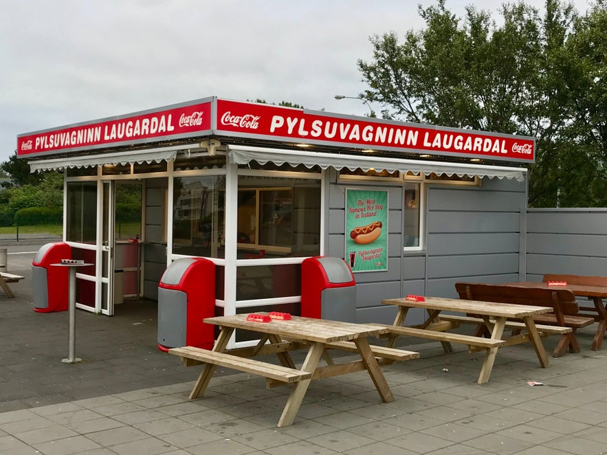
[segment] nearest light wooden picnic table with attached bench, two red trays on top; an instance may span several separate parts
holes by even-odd
[[[190,355],[189,358],[194,359],[195,362],[206,364],[190,393],[190,398],[203,395],[215,368],[221,365],[267,377],[269,386],[275,385],[276,381],[294,383],[294,389],[289,395],[283,414],[278,421],[279,427],[293,423],[312,379],[344,375],[366,369],[382,401],[388,402],[394,399],[368,342],[368,337],[388,333],[390,330],[388,326],[352,324],[297,316],[293,316],[291,320],[252,322],[247,321],[246,314],[206,318],[204,322],[221,327],[212,351],[189,346],[169,350],[169,353],[183,357],[184,362]],[[256,331],[263,335],[257,346],[253,348],[226,351],[234,329]],[[335,363],[332,359],[328,359],[326,366],[319,366],[320,359],[327,355],[327,348],[339,348],[340,343],[344,342],[353,342],[355,351],[360,354],[360,360]],[[305,360],[299,368],[289,355],[289,351],[296,348],[308,348]],[[268,353],[277,354],[282,366],[247,358]]]

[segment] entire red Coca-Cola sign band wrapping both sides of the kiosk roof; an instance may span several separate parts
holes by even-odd
[[[19,135],[17,155],[84,151],[102,146],[117,147],[213,134],[519,162],[533,162],[535,159],[532,137],[207,99],[207,102],[194,101],[177,107]]]

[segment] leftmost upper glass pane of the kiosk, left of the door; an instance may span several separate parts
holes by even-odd
[[[95,181],[67,184],[67,240],[96,243],[97,183]]]

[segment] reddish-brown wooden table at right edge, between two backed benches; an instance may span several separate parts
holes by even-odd
[[[564,281],[566,285],[551,286],[549,281]],[[576,297],[587,297],[592,300],[594,307],[580,307],[584,311],[596,311],[593,318],[599,323],[593,338],[592,350],[601,348],[605,331],[607,330],[607,309],[603,299],[607,298],[607,277],[580,275],[544,275],[544,281],[509,282],[505,286],[535,287],[541,289],[567,289]]]

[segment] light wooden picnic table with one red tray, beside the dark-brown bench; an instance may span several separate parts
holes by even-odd
[[[485,384],[495,362],[498,348],[521,342],[531,342],[538,355],[540,365],[543,368],[549,366],[548,357],[544,350],[544,344],[540,333],[533,322],[533,316],[548,313],[551,309],[547,307],[533,307],[531,305],[479,302],[476,300],[462,300],[455,298],[425,297],[423,301],[408,300],[406,298],[393,298],[382,300],[388,305],[397,305],[398,312],[393,324],[388,346],[392,347],[398,335],[430,338],[443,343],[445,351],[450,348],[446,345],[450,342],[477,346],[477,350],[485,350],[485,359],[478,376],[478,384]],[[410,308],[423,308],[428,311],[428,318],[423,324],[415,327],[404,327],[405,318]],[[441,311],[454,311],[457,313],[472,313],[483,318],[485,325],[491,331],[489,338],[461,335],[459,333],[444,332],[450,328],[448,324],[441,324],[439,314]],[[504,329],[509,318],[522,319],[525,322],[527,333],[504,336]]]

